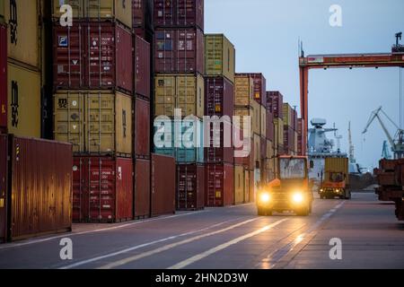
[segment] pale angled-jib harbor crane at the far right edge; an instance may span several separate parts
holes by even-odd
[[[397,128],[397,132],[394,137],[391,136],[391,134],[387,130],[387,127],[384,125],[381,114],[383,114],[384,117],[386,117],[391,122],[391,124]],[[403,155],[404,155],[404,141],[403,141],[404,130],[402,130],[399,126],[397,126],[396,123],[394,123],[394,121],[391,119],[391,117],[389,117],[382,110],[382,107],[380,107],[379,109],[376,109],[372,112],[371,116],[369,117],[369,121],[367,122],[367,125],[364,127],[364,132],[362,134],[367,133],[367,129],[369,128],[369,126],[372,125],[374,119],[376,119],[376,118],[379,121],[379,124],[382,126],[382,130],[383,130],[384,134],[387,136],[387,140],[389,141],[389,143],[391,145],[391,152],[394,153],[394,159],[403,158]]]

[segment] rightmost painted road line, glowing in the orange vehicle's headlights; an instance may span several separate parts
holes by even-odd
[[[193,263],[195,263],[195,262],[197,262],[199,260],[202,260],[205,257],[209,257],[209,256],[211,256],[212,254],[215,254],[218,251],[221,251],[221,250],[223,250],[225,248],[229,248],[232,245],[237,244],[237,243],[239,243],[239,242],[241,242],[241,241],[243,241],[245,239],[250,239],[251,237],[259,235],[262,232],[270,230],[270,229],[274,228],[275,226],[277,226],[278,224],[280,224],[282,222],[285,222],[285,221],[288,221],[288,220],[289,219],[283,219],[283,220],[277,221],[275,223],[269,224],[269,225],[267,225],[267,226],[265,226],[265,227],[263,227],[263,228],[261,228],[259,230],[255,230],[255,231],[250,232],[248,234],[245,234],[245,235],[243,235],[243,236],[241,236],[239,238],[236,238],[236,239],[230,240],[228,242],[225,242],[224,244],[218,245],[215,248],[211,248],[209,250],[206,250],[205,252],[199,253],[198,255],[196,255],[194,257],[190,257],[190,258],[188,258],[188,259],[186,259],[184,261],[181,261],[180,263],[178,263],[176,265],[172,265],[168,269],[182,269],[182,268],[184,268],[184,267],[186,267],[188,265],[191,265],[191,264],[193,264]]]

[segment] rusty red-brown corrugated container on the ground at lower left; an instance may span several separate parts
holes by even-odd
[[[9,135],[8,146],[7,239],[71,230],[72,145]]]

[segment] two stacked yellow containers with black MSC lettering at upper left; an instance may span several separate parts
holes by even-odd
[[[41,1],[0,6],[0,132],[41,135]]]

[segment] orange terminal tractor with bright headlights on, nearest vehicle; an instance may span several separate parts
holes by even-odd
[[[300,216],[309,215],[313,196],[307,157],[282,155],[277,162],[277,178],[259,188],[258,214],[293,211]]]

